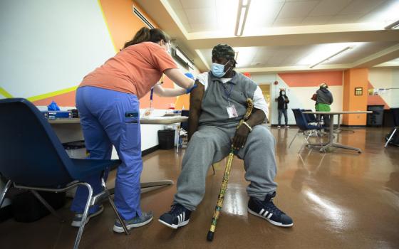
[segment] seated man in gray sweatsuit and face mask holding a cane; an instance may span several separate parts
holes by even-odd
[[[215,46],[212,70],[197,76],[198,87],[190,96],[189,144],[177,180],[177,194],[171,210],[159,219],[170,228],[189,223],[191,212],[204,197],[209,166],[227,157],[231,144],[237,157],[244,160],[245,179],[250,182],[248,212],[276,226],[294,224],[272,202],[277,186],[275,142],[269,129],[260,125],[267,119],[266,101],[254,81],[233,70],[234,55],[227,44]],[[237,129],[247,111],[247,98],[253,100],[254,111]]]

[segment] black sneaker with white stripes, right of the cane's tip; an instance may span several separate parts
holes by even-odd
[[[294,225],[291,217],[287,216],[279,208],[274,206],[272,199],[276,196],[276,192],[268,194],[264,201],[250,197],[248,201],[248,212],[254,216],[264,218],[275,226],[290,227]]]

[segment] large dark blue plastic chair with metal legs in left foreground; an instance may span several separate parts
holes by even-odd
[[[0,100],[0,131],[0,174],[9,180],[1,192],[0,206],[9,188],[14,186],[31,191],[51,213],[60,218],[37,191],[64,192],[79,185],[85,186],[89,193],[88,200],[73,248],[78,248],[88,209],[106,198],[123,224],[125,233],[129,234],[104,179],[103,191],[95,196],[90,184],[83,181],[90,175],[104,174],[104,171],[118,166],[120,160],[70,159],[43,114],[22,98]]]

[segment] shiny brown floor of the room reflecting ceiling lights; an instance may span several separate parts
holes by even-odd
[[[336,149],[321,154],[301,147],[296,129],[271,129],[276,137],[279,183],[275,203],[294,218],[293,228],[278,228],[247,214],[242,161],[234,159],[223,212],[214,241],[206,235],[219,192],[224,162],[217,174],[209,171],[204,201],[190,224],[174,231],[157,218],[167,211],[175,193],[169,186],[142,194],[142,208],[155,212],[155,221],[131,235],[112,232],[113,212],[88,223],[81,248],[399,248],[399,148],[383,148],[385,129],[342,132],[338,142],[363,149],[363,154]],[[176,180],[182,154],[157,151],[144,157],[142,181]],[[76,229],[47,216],[35,223],[0,223],[0,248],[72,248]]]

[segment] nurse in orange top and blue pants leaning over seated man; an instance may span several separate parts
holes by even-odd
[[[194,85],[194,80],[177,69],[167,53],[169,46],[169,36],[160,29],[141,28],[123,50],[86,75],[76,90],[76,107],[89,158],[110,159],[114,146],[122,160],[115,180],[115,206],[129,229],[150,223],[153,216],[140,208],[139,100],[157,84],[162,73],[185,90],[190,91]],[[175,91],[175,95],[180,92]],[[100,176],[86,181],[93,187],[93,194],[101,191]],[[87,189],[78,188],[71,205],[75,212],[72,226],[81,225],[87,198]],[[102,206],[93,206],[88,218],[102,211]],[[123,232],[118,220],[113,231]]]

